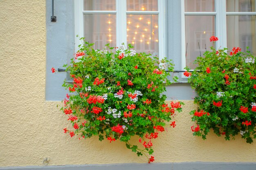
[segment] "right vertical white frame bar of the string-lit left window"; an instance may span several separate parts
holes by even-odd
[[[165,1],[158,0],[158,28],[159,28],[159,60],[162,60],[166,57],[166,38],[165,38]]]

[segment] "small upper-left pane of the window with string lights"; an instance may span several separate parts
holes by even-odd
[[[115,11],[115,0],[83,0],[83,10],[85,11]]]

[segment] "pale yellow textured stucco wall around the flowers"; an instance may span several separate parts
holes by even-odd
[[[145,163],[119,141],[63,133],[69,123],[56,108],[61,102],[45,101],[45,1],[0,0],[0,7],[0,167],[43,166],[45,157],[49,165]],[[184,103],[177,126],[154,141],[155,162],[255,162],[256,145],[240,137],[193,137],[189,111],[195,105]]]

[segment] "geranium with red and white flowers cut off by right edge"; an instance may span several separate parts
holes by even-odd
[[[218,38],[213,36],[210,41],[214,43]],[[226,140],[239,134],[252,143],[256,138],[255,57],[249,51],[241,52],[240,47],[229,53],[226,48],[211,50],[195,60],[198,67],[187,75],[198,93],[194,99],[198,109],[191,111],[193,135],[206,139],[212,129]]]

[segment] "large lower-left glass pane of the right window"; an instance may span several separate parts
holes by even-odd
[[[213,45],[209,38],[215,35],[215,16],[186,15],[186,66],[194,69],[196,57],[203,55]]]

